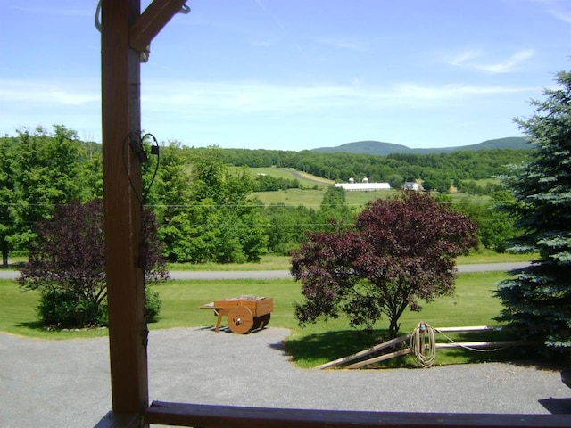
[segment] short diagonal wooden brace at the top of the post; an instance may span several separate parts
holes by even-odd
[[[186,0],[154,0],[133,23],[130,45],[139,53],[151,45],[153,38],[180,11]]]

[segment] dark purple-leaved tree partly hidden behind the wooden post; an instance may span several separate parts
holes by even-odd
[[[153,214],[145,213],[147,284],[167,279]],[[44,325],[84,327],[106,323],[103,203],[60,205],[51,219],[37,222],[29,263],[21,268],[21,290],[40,292]],[[147,287],[147,319],[156,317],[160,300]],[[153,303],[149,305],[149,302]],[[159,305],[159,308],[157,308]]]

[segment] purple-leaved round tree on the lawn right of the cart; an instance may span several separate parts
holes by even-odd
[[[372,329],[383,315],[396,337],[409,307],[454,290],[455,261],[477,247],[476,223],[426,193],[405,192],[369,202],[355,224],[313,233],[295,251],[291,272],[302,281],[295,303],[300,325],[344,313],[353,327]]]

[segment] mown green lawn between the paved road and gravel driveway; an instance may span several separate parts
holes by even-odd
[[[492,298],[492,292],[495,284],[505,277],[506,274],[501,272],[460,275],[455,295],[426,304],[420,313],[405,312],[401,317],[401,333],[410,333],[421,320],[434,327],[497,324],[493,317],[499,314],[501,304]],[[293,280],[173,281],[155,289],[161,295],[162,309],[160,319],[149,325],[150,329],[213,326],[216,324],[213,312],[210,309],[199,309],[204,303],[242,294],[273,297],[275,309],[269,326],[292,330],[285,346],[294,361],[302,367],[317,366],[350,355],[387,338],[386,319],[377,323],[372,336],[352,330],[343,318],[300,328],[293,310],[294,301],[301,299],[300,284]],[[13,281],[0,281],[0,331],[42,339],[87,338],[106,334],[106,330],[101,329],[46,332],[37,325],[36,305],[36,292],[22,293]],[[226,323],[226,319],[223,323]],[[491,333],[479,334],[479,337],[470,340],[491,337]],[[442,341],[443,338],[438,337],[437,340]],[[460,350],[439,350],[437,364],[489,358],[509,358],[509,355],[475,355]],[[408,366],[412,363],[410,359],[401,358],[388,364]]]

